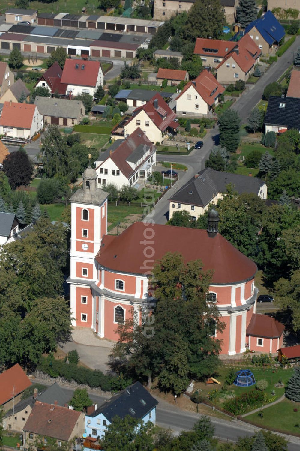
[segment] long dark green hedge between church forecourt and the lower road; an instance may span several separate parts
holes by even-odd
[[[63,360],[41,357],[37,369],[51,377],[63,377],[67,381],[74,380],[78,384],[87,384],[89,387],[100,387],[103,391],[124,390],[133,381],[121,376],[108,376],[102,371],[93,370],[76,364],[67,364]]]

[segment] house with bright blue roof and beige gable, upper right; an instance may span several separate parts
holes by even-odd
[[[284,28],[271,11],[249,23],[245,33],[249,34],[264,55],[276,50],[286,35]]]

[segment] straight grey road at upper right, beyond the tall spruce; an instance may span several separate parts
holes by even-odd
[[[298,47],[300,46],[300,36],[298,36],[295,42],[289,49],[278,58],[277,63],[273,63],[270,69],[259,78],[258,82],[251,86],[248,92],[245,92],[232,106],[232,109],[237,111],[243,122],[247,119],[251,110],[258,104],[262,98],[264,88],[272,82],[278,80],[278,78],[293,64],[293,54],[296,54]]]

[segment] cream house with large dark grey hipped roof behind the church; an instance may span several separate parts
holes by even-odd
[[[239,194],[254,193],[262,199],[267,198],[267,185],[257,177],[206,168],[198,172],[169,199],[169,217],[171,218],[175,212],[187,211],[196,221],[208,210],[210,204],[217,203],[224,197],[228,184],[231,184]]]

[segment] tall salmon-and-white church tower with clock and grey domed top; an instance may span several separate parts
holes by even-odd
[[[73,326],[92,327],[94,308],[91,284],[97,280],[94,258],[107,234],[106,193],[97,187],[97,174],[90,166],[83,172],[83,186],[70,198],[70,314]]]

